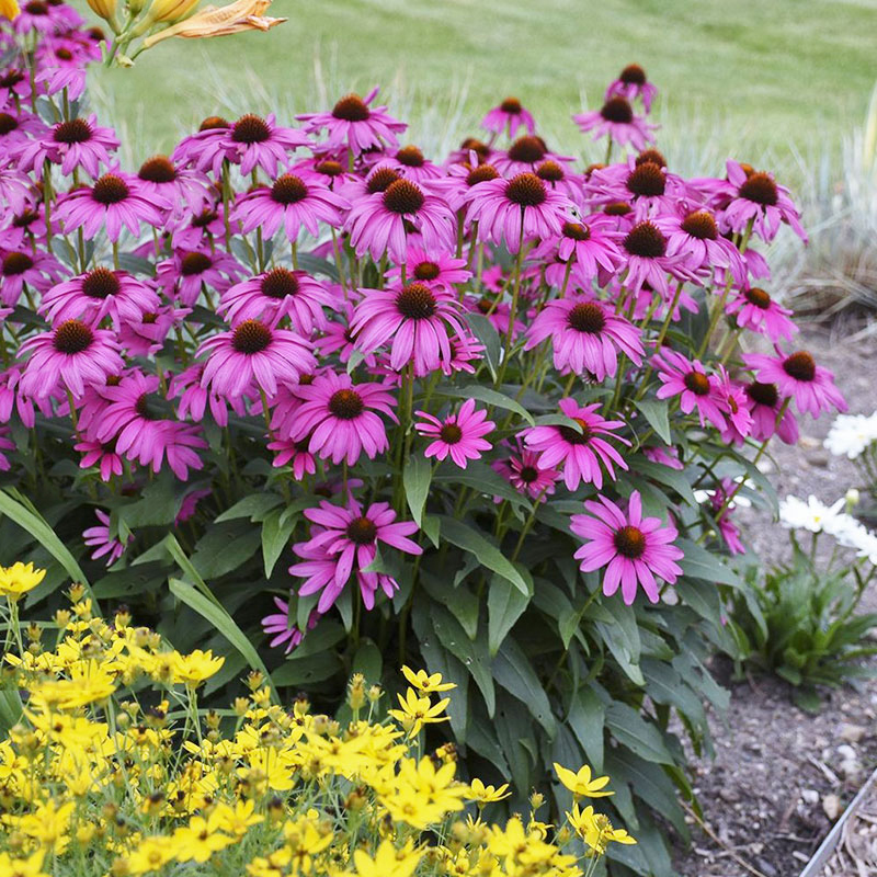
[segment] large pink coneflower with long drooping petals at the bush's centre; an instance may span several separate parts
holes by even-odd
[[[466,330],[454,294],[445,288],[409,283],[401,289],[363,289],[350,330],[357,350],[374,353],[390,343],[390,367],[401,372],[409,363],[414,374],[428,375],[451,360],[448,331]]]

